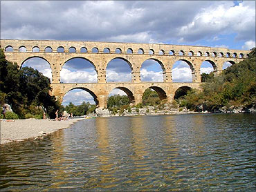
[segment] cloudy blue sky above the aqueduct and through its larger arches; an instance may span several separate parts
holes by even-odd
[[[1,39],[115,41],[250,49],[255,47],[255,1],[1,1]],[[29,59],[31,66],[51,78],[46,61]],[[225,68],[228,64],[225,64]],[[208,62],[201,73],[210,73]],[[163,81],[161,66],[145,61],[142,81]],[[61,71],[62,82],[96,82],[93,66],[71,59]],[[117,79],[116,77],[122,77]],[[172,68],[173,81],[191,81],[183,62]],[[131,81],[125,61],[113,59],[107,81]],[[113,94],[125,94],[113,90]],[[89,93],[73,90],[63,104],[93,102]]]

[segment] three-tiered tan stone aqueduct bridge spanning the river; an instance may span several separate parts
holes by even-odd
[[[200,68],[203,61],[209,61],[214,68],[214,73],[218,74],[226,61],[235,64],[247,57],[249,53],[248,50],[205,46],[10,39],[1,40],[1,48],[5,51],[6,59],[17,62],[20,67],[32,57],[40,57],[48,61],[53,77],[52,94],[60,101],[69,90],[82,88],[91,93],[95,103],[100,107],[107,106],[107,97],[114,88],[124,90],[133,104],[142,101],[143,93],[147,88],[156,90],[160,99],[167,99],[167,102],[172,102],[178,88],[199,88],[201,84]],[[71,50],[73,51],[71,52]],[[98,83],[61,83],[60,71],[62,66],[66,61],[73,58],[84,58],[91,61],[98,75]],[[131,82],[107,83],[107,64],[115,58],[127,61],[131,68]],[[143,61],[147,59],[154,59],[161,65],[163,82],[140,81],[140,67]],[[172,66],[175,61],[179,60],[187,62],[190,66],[192,70],[191,83],[172,82]]]

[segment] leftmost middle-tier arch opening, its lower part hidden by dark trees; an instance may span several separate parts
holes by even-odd
[[[28,57],[21,62],[20,68],[24,66],[28,66],[38,70],[44,76],[48,77],[51,81],[53,79],[51,64],[44,57],[39,57],[39,56]]]

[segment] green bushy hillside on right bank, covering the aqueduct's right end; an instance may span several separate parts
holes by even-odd
[[[253,48],[247,59],[223,70],[221,75],[209,78],[201,88],[201,91],[188,91],[177,102],[194,111],[214,111],[232,105],[255,106],[256,48]],[[203,109],[199,106],[203,106]]]

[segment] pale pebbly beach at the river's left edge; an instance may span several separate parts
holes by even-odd
[[[15,122],[6,122],[1,119],[0,144],[21,141],[53,133],[59,129],[68,128],[71,124],[74,124],[81,119],[69,119],[68,121],[53,121],[49,119],[17,119]]]

